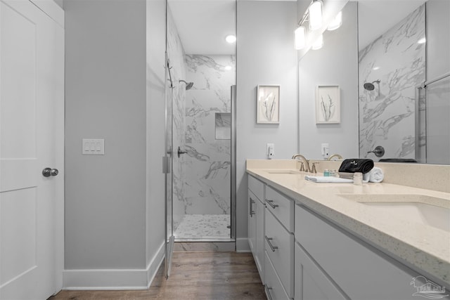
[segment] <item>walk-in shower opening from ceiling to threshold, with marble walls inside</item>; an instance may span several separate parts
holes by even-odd
[[[231,86],[236,1],[168,0],[172,67],[172,220],[177,242],[234,242]],[[210,16],[214,15],[214,20]]]

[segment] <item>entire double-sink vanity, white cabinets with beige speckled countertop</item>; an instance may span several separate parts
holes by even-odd
[[[450,299],[448,191],[312,183],[288,161],[248,160],[247,172],[268,299]]]

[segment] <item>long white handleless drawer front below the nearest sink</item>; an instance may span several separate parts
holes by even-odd
[[[298,205],[295,239],[351,299],[416,298],[420,274]]]

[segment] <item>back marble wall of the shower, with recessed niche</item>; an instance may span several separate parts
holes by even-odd
[[[216,114],[231,112],[236,57],[186,55],[186,78],[186,214],[230,214],[231,143],[215,128],[231,126]]]

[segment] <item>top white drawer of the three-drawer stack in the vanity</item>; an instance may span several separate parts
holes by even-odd
[[[276,216],[278,221],[280,221],[290,233],[294,232],[293,200],[281,195],[273,188],[266,186],[266,207]]]

